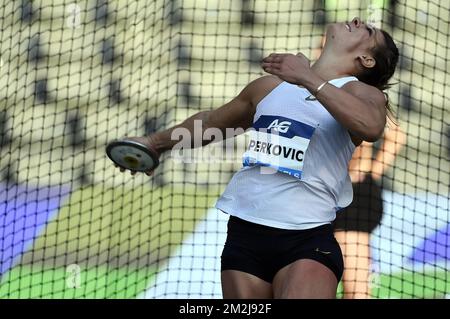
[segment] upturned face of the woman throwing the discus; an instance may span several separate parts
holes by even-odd
[[[351,22],[330,24],[326,43],[336,54],[360,57],[365,67],[372,67],[375,60],[371,52],[383,39],[379,29],[353,18]]]

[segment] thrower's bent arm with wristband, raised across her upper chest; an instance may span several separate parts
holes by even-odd
[[[314,93],[324,83],[310,67],[301,53],[271,54],[263,60],[262,67],[281,79],[306,87]],[[337,88],[327,84],[316,94],[317,100],[352,135],[374,142],[383,134],[386,124],[386,99],[377,88],[352,81]]]

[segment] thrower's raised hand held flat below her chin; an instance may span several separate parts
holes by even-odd
[[[262,60],[261,67],[267,73],[297,85],[303,85],[311,74],[310,62],[302,53],[271,53]]]

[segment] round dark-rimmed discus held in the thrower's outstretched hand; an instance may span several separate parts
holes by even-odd
[[[146,145],[127,139],[106,146],[106,154],[119,167],[135,172],[150,172],[159,165],[158,153]]]

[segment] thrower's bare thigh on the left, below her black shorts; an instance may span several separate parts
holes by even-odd
[[[252,274],[238,270],[224,270],[222,293],[225,299],[272,298],[272,285]]]

